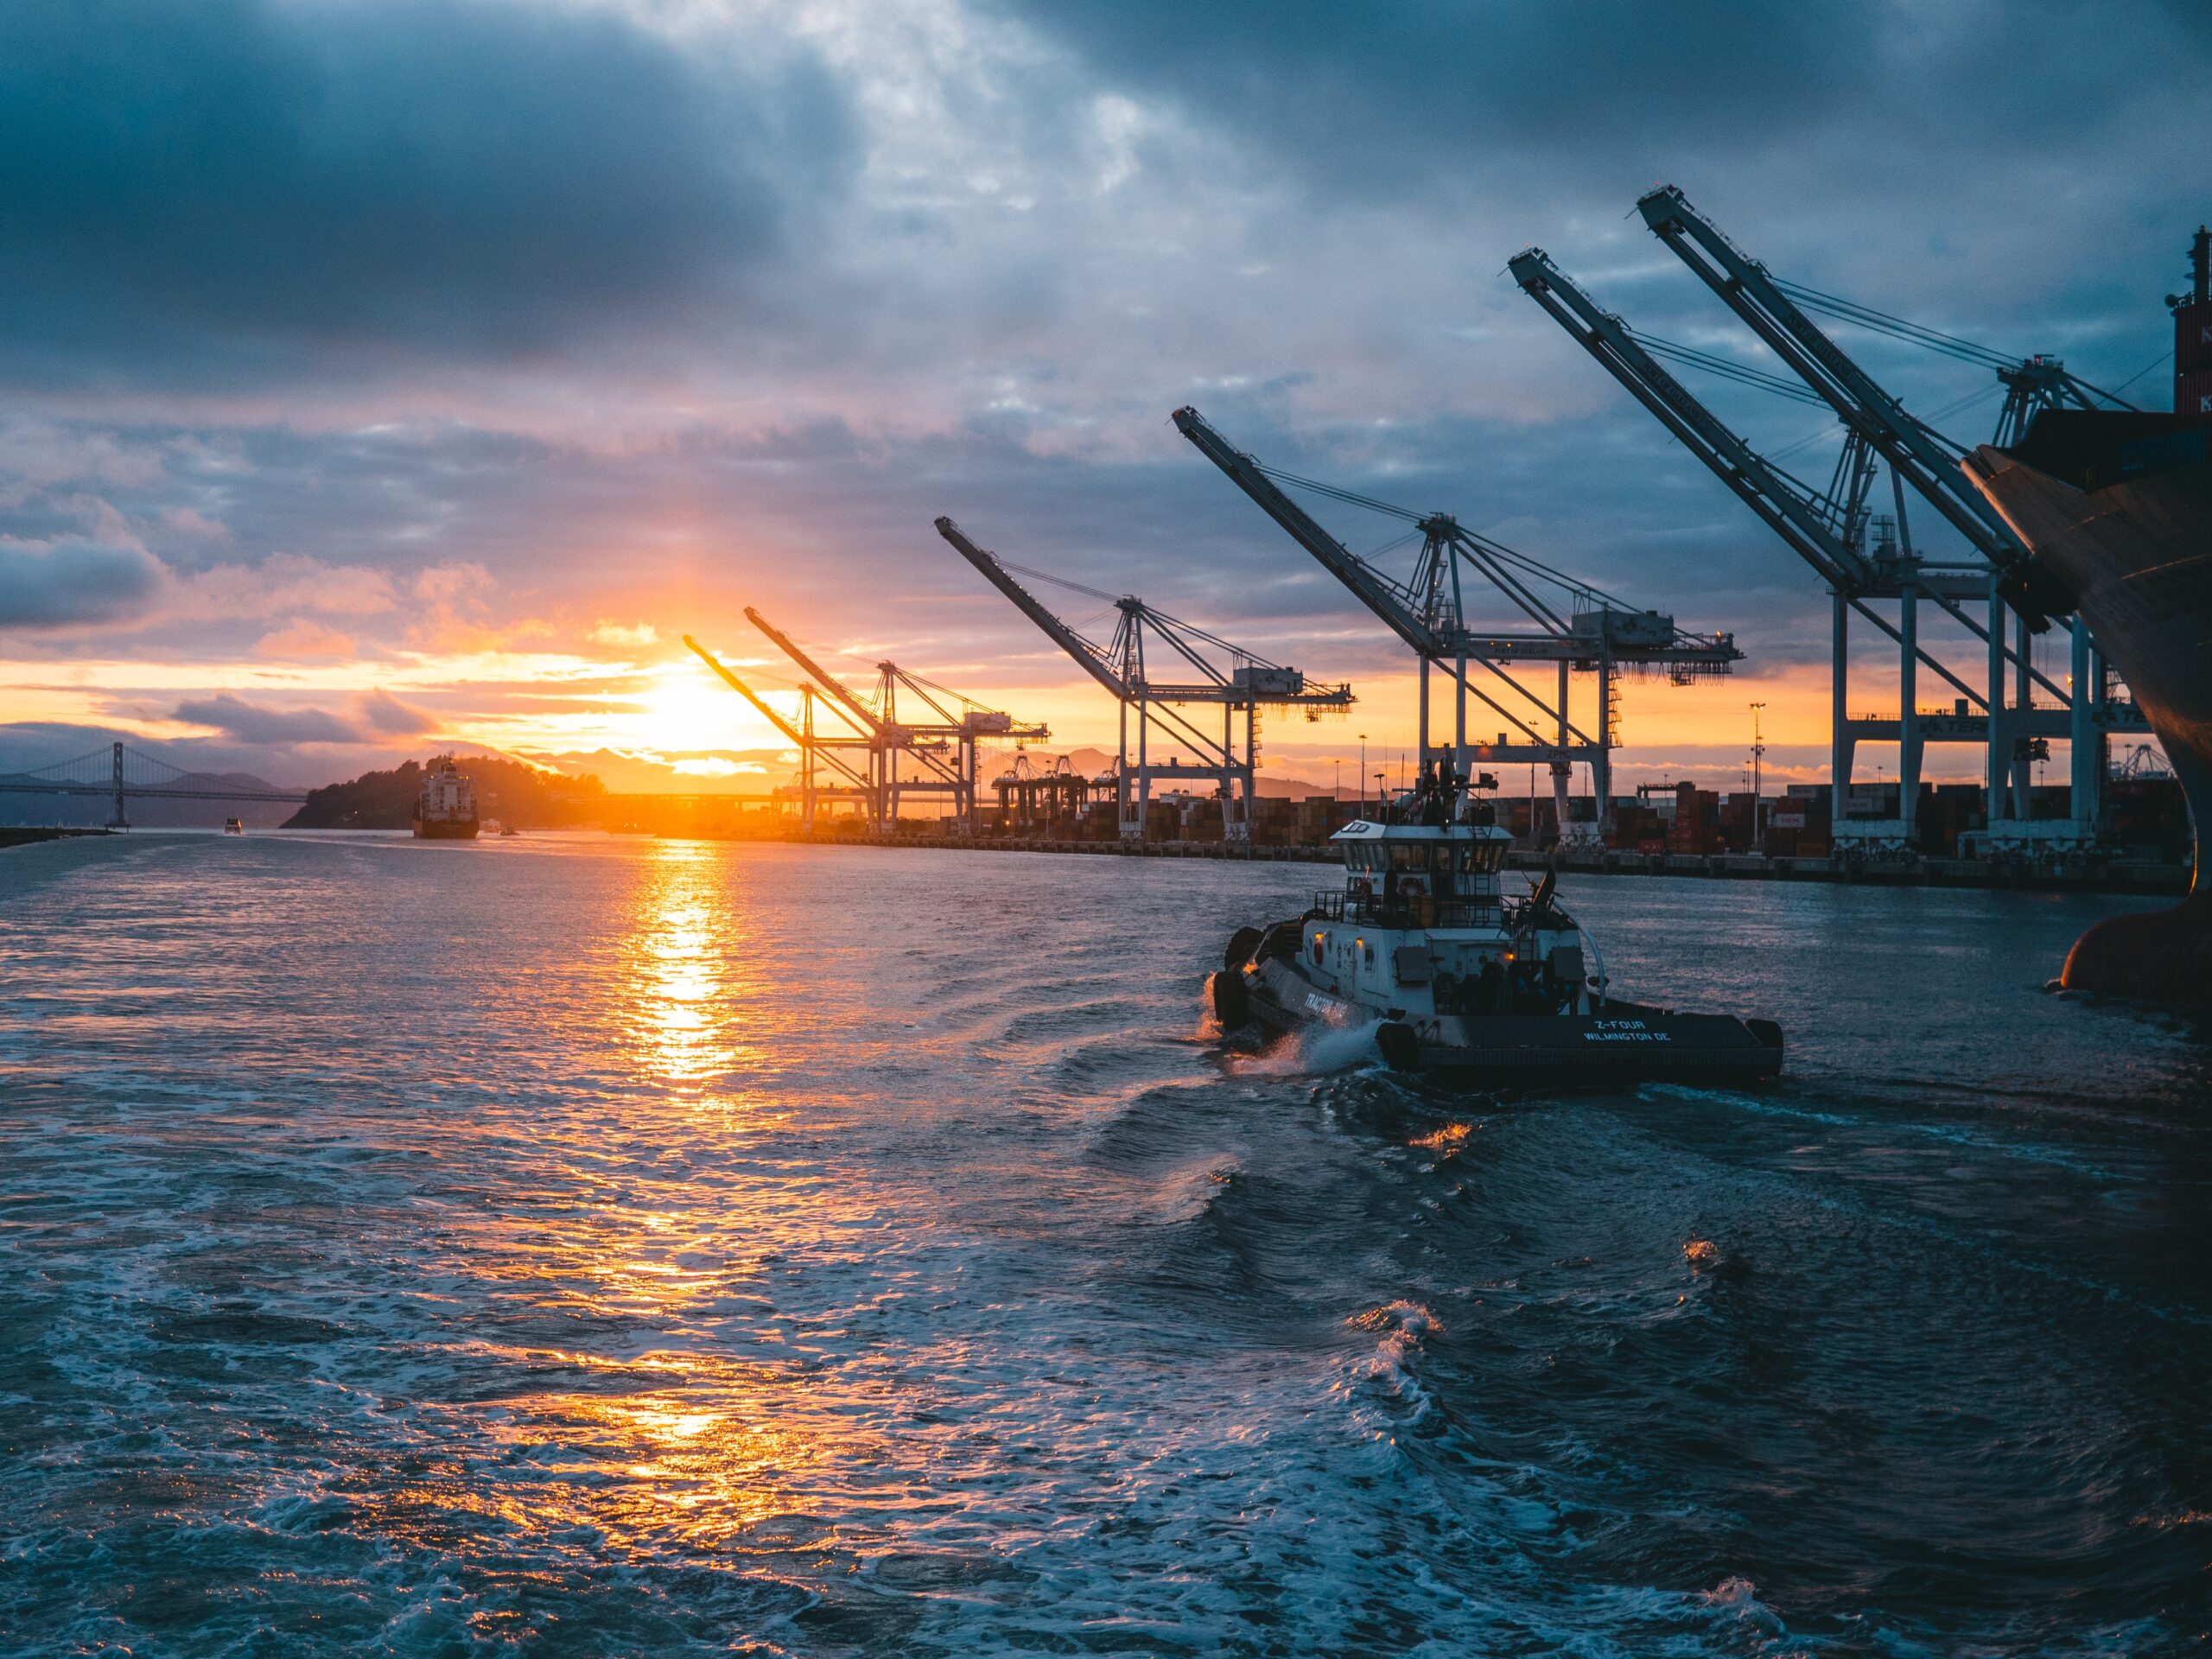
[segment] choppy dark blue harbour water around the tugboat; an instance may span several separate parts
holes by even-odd
[[[2115,905],[1568,880],[1763,1093],[1225,1060],[1305,867],[0,854],[0,1652],[2199,1652]]]

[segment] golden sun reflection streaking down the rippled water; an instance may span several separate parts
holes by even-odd
[[[380,1493],[378,1528],[726,1562],[867,1531],[845,1517],[891,1453],[880,1402],[823,1371],[847,1310],[818,1298],[872,1199],[774,1139],[805,1011],[754,880],[728,845],[637,847],[588,980],[584,1066],[611,1086],[524,1126],[526,1201],[451,1214],[498,1329],[453,1345],[471,1383],[434,1407],[465,1451]]]

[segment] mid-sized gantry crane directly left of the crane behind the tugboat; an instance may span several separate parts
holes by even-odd
[[[1144,838],[1146,814],[1152,803],[1152,779],[1212,779],[1221,790],[1221,838],[1250,841],[1261,706],[1303,708],[1314,717],[1327,710],[1345,710],[1354,701],[1352,686],[1307,686],[1305,675],[1296,668],[1272,664],[1243,646],[1232,646],[1206,628],[1170,617],[1166,611],[1155,611],[1135,595],[1110,595],[1046,575],[1044,571],[1006,564],[995,553],[975,546],[949,518],[938,520],[938,535],[973,564],[993,588],[1013,599],[1015,608],[1035,622],[1046,639],[1068,653],[1119,703],[1121,734],[1115,752],[1115,807],[1121,836],[1128,841]],[[1113,639],[1104,646],[1086,639],[1015,582],[1013,571],[1115,606],[1119,619],[1115,622]],[[1164,648],[1175,670],[1192,670],[1199,677],[1152,679],[1146,661],[1146,641],[1152,641],[1155,653]],[[1212,661],[1212,655],[1228,657],[1230,666],[1221,668]],[[1221,710],[1219,739],[1210,730],[1199,730],[1197,721],[1181,712],[1190,706]],[[1133,708],[1137,710],[1135,790],[1130,790],[1128,761],[1128,714]],[[1237,730],[1239,714],[1243,717],[1241,745]],[[1166,761],[1152,759],[1150,739],[1155,726],[1161,737],[1179,745],[1188,743],[1197,759],[1183,761],[1172,754]]]

